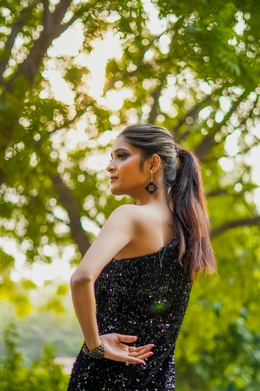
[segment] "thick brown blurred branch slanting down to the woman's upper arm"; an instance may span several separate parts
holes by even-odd
[[[82,256],[84,256],[90,248],[90,243],[80,222],[80,206],[73,197],[71,190],[66,186],[59,175],[52,177],[52,181],[61,203],[68,212],[71,235],[78,245]]]

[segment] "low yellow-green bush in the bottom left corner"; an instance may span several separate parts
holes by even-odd
[[[68,375],[62,366],[54,363],[54,348],[46,343],[42,356],[33,362],[32,368],[24,368],[22,355],[17,351],[16,326],[9,323],[4,330],[5,357],[0,360],[1,391],[63,391],[68,384]]]

